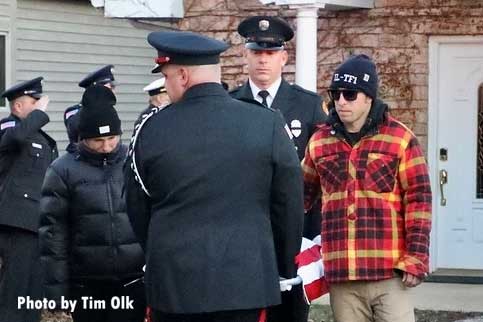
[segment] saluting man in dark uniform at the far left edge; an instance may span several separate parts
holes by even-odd
[[[10,115],[0,121],[0,321],[39,321],[38,310],[17,308],[19,297],[40,297],[38,222],[40,188],[57,157],[42,77],[7,89]]]

